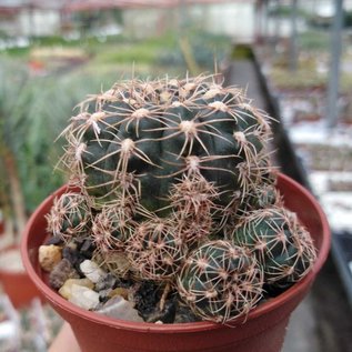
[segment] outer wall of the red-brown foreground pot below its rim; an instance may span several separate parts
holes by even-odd
[[[282,348],[289,314],[295,308],[286,306],[280,314],[270,314],[239,326],[204,326],[203,330],[187,331],[170,328],[160,331],[133,331],[103,325],[57,311],[70,322],[82,351],[107,352],[279,352]],[[187,328],[187,326],[184,326]],[[87,333],[89,331],[89,333]]]

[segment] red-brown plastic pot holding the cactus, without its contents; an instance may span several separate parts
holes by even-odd
[[[46,238],[44,214],[53,197],[49,197],[33,213],[22,241],[23,262],[30,278],[57,312],[67,320],[84,352],[119,351],[217,351],[217,352],[279,352],[291,312],[301,302],[322,268],[330,248],[326,219],[315,199],[285,175],[279,175],[278,188],[289,209],[299,214],[311,232],[319,250],[312,271],[275,299],[260,304],[245,323],[224,326],[211,322],[184,324],[152,324],[113,320],[82,310],[62,299],[49,288],[38,264],[38,247]],[[64,192],[64,188],[56,194]]]

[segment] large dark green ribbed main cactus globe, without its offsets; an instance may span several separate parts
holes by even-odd
[[[133,194],[155,212],[170,204],[171,187],[190,173],[219,188],[223,205],[235,190],[255,184],[259,162],[268,159],[262,150],[269,127],[240,90],[202,77],[145,86],[132,81],[97,95],[100,110],[93,113],[90,98],[67,131],[72,155],[80,159],[68,164],[81,165],[78,177],[97,204]]]

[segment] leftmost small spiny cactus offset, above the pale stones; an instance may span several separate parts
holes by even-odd
[[[80,193],[68,192],[56,198],[47,215],[48,232],[64,241],[72,237],[88,235],[91,210],[87,198]]]

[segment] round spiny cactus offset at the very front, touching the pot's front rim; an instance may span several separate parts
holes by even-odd
[[[227,241],[201,245],[184,263],[178,279],[181,298],[205,320],[229,322],[262,298],[262,272],[249,252]]]

